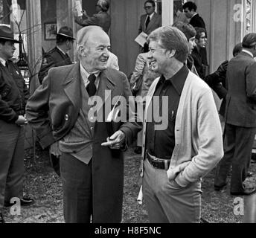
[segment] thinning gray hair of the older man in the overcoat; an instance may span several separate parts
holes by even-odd
[[[86,42],[88,41],[88,38],[89,38],[89,33],[95,30],[103,30],[103,29],[97,25],[89,25],[88,27],[84,27],[77,31],[77,51],[76,51],[77,60],[81,59],[79,54],[79,48],[81,46],[86,46]]]

